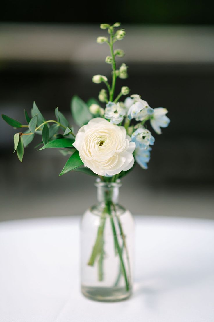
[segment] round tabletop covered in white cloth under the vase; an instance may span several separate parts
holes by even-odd
[[[79,217],[0,223],[1,322],[213,322],[214,221],[136,216],[133,296],[101,303],[79,281]]]

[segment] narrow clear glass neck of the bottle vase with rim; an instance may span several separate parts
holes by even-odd
[[[95,183],[97,187],[97,199],[99,203],[106,204],[108,201],[118,204],[119,188],[121,183],[117,182],[102,182],[97,179]]]

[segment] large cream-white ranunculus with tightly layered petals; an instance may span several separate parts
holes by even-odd
[[[116,175],[134,164],[135,143],[123,126],[104,118],[93,118],[82,126],[73,146],[79,151],[84,166],[98,175]]]

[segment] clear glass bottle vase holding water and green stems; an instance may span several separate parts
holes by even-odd
[[[98,204],[81,221],[81,290],[97,301],[119,301],[132,293],[133,216],[118,204],[120,180],[95,185]]]

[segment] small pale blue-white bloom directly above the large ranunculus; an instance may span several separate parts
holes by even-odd
[[[110,123],[119,124],[123,121],[125,113],[125,109],[119,103],[108,102],[104,117],[110,119]]]

